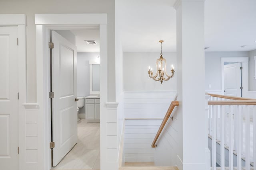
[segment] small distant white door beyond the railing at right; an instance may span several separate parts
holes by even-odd
[[[241,63],[224,65],[224,94],[227,96],[242,97]]]

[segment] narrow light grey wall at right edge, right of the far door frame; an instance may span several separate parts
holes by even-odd
[[[256,91],[256,79],[255,75],[255,61],[254,56],[256,56],[256,50],[249,51],[249,91]]]

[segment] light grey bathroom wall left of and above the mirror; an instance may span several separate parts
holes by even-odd
[[[90,64],[89,61],[96,60],[100,53],[77,53],[77,96],[90,96]],[[79,113],[85,113],[84,107]]]

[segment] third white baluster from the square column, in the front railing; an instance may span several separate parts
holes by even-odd
[[[229,134],[229,149],[228,149],[228,160],[229,160],[229,170],[233,170],[233,140],[234,140],[234,122],[233,122],[233,106],[229,106],[229,121],[230,121],[230,134]]]

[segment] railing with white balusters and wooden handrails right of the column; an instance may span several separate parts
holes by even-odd
[[[256,99],[208,95],[212,170],[256,170]]]

